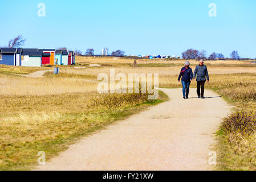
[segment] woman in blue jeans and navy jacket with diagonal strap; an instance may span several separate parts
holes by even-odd
[[[186,61],[184,63],[184,67],[181,68],[180,75],[178,76],[178,82],[180,82],[181,78],[181,83],[182,83],[182,92],[183,92],[183,98],[187,99],[189,98],[189,86],[191,81],[193,80],[193,71],[189,67],[190,63],[189,61]]]

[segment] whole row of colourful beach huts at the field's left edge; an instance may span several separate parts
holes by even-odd
[[[41,67],[75,64],[74,51],[39,48],[0,48],[0,64]]]

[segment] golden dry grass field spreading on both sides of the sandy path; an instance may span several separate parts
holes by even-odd
[[[190,62],[194,69],[197,61]],[[132,63],[133,60],[123,58],[76,57],[76,65],[60,66],[60,75],[47,72],[44,78],[21,75],[52,67],[0,65],[0,169],[30,169],[37,162],[38,151],[46,151],[50,159],[79,137],[167,99],[163,93],[156,101],[148,101],[147,94],[99,94],[96,91],[99,73],[109,75],[109,69],[126,75],[159,73],[160,87],[181,87],[177,78],[184,60],[138,60],[136,68]],[[90,64],[101,66],[89,67]],[[210,75],[206,89],[220,93],[227,102],[238,109],[243,107],[250,115],[251,109],[256,108],[256,64],[250,61],[206,61],[205,64]],[[191,86],[195,87],[196,82]],[[237,122],[233,118],[227,117],[224,123]],[[218,131],[218,169],[255,169],[254,132],[245,135],[230,130],[230,126],[223,125]],[[256,126],[250,129],[255,131]],[[241,137],[235,138],[238,134]]]

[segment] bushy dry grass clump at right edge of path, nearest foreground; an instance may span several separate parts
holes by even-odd
[[[256,169],[256,113],[237,110],[224,118],[219,132],[218,168],[226,170]]]

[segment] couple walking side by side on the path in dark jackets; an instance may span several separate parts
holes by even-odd
[[[183,88],[183,98],[189,98],[189,86],[191,81],[196,79],[197,76],[197,96],[198,98],[205,98],[204,92],[205,92],[205,82],[207,78],[207,82],[209,82],[209,75],[206,65],[204,65],[204,61],[200,60],[199,65],[196,66],[196,69],[194,69],[194,75],[192,69],[189,67],[190,63],[189,61],[185,62],[185,67],[181,69],[180,75],[178,76],[178,82],[182,83]],[[206,77],[206,78],[205,78]],[[200,90],[201,88],[201,90]],[[201,92],[200,92],[201,91]]]

